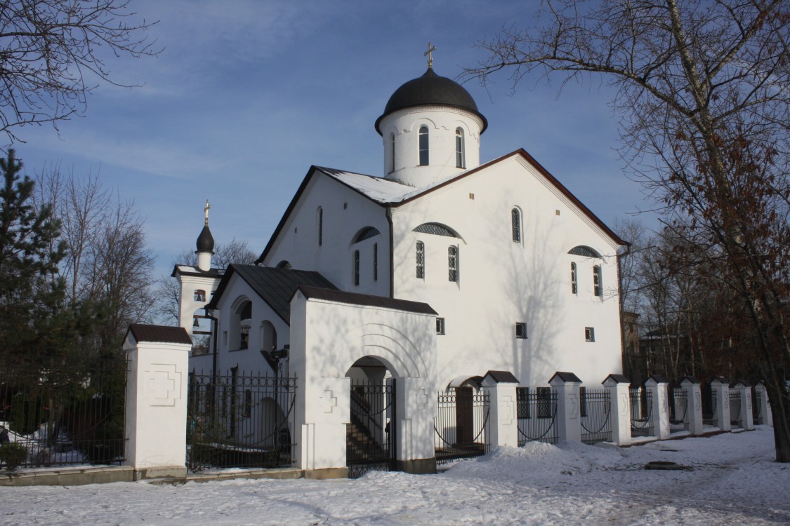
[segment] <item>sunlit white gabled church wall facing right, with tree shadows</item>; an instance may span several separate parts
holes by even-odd
[[[511,210],[522,216],[513,243]],[[559,211],[559,215],[558,215]],[[439,222],[461,238],[412,231]],[[393,209],[394,296],[426,301],[446,319],[437,337],[438,380],[511,371],[523,386],[546,385],[555,371],[600,382],[622,368],[617,290],[618,245],[520,155],[503,159]],[[416,241],[425,244],[425,278],[416,278]],[[447,249],[458,248],[458,282],[449,282]],[[603,256],[578,261],[577,245]],[[592,265],[603,268],[604,297],[592,293]],[[515,338],[515,323],[528,338]],[[585,327],[595,342],[585,341]]]

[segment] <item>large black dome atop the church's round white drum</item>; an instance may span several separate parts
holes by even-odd
[[[423,73],[423,76],[409,80],[406,84],[397,88],[393,95],[389,97],[384,113],[376,119],[376,131],[378,134],[382,134],[382,130],[378,129],[378,125],[381,124],[382,119],[387,115],[393,114],[397,110],[416,106],[452,106],[461,110],[471,111],[483,121],[483,129],[480,129],[480,133],[484,132],[488,127],[488,121],[477,110],[477,104],[475,99],[472,99],[472,95],[469,95],[469,92],[455,80],[450,80],[446,76],[438,76],[434,73],[433,68],[429,67]]]

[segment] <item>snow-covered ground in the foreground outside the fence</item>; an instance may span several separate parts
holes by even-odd
[[[673,461],[690,471],[648,471]],[[773,430],[613,446],[502,448],[438,475],[0,490],[0,524],[788,524]]]

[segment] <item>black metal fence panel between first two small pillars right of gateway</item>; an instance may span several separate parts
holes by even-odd
[[[516,390],[518,416],[518,446],[527,442],[559,442],[557,431],[557,394],[551,387],[518,387]]]

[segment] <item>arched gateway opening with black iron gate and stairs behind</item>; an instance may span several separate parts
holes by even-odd
[[[378,358],[365,356],[346,372],[351,379],[350,422],[346,424],[348,478],[394,467],[395,384]]]

